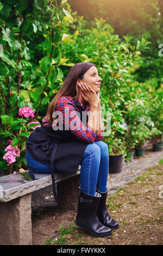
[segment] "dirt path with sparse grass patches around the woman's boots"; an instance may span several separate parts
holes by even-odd
[[[74,224],[75,211],[49,206],[33,214],[33,245],[162,245],[162,175],[160,161],[108,197],[108,212],[120,224],[111,237],[92,237]]]

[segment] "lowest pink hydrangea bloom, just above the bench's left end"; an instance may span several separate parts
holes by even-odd
[[[14,163],[16,161],[16,157],[20,157],[20,150],[17,146],[12,147],[11,145],[8,145],[8,147],[5,148],[5,151],[7,153],[3,156],[3,159],[8,163]]]

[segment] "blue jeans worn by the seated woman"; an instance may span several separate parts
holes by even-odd
[[[49,166],[35,161],[26,151],[28,167],[36,173],[51,173]],[[55,169],[56,172],[59,170]],[[96,188],[106,192],[109,172],[108,145],[103,141],[88,144],[83,155],[80,169],[80,187],[84,193],[95,196]]]

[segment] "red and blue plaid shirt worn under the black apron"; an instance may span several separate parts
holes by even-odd
[[[80,105],[83,106],[82,102],[77,98]],[[90,104],[87,102],[85,109],[89,116]],[[62,96],[57,102],[56,111],[62,112],[63,124],[69,127],[69,131],[77,138],[79,141],[93,143],[94,141],[101,141],[104,137],[104,130],[100,135],[96,135],[95,131],[88,125],[84,125],[83,122],[77,115],[76,111],[79,109],[74,105],[73,99],[70,96]],[[52,123],[47,121],[46,116],[42,119],[42,125],[46,127],[52,127]],[[53,122],[54,125],[54,122]],[[56,124],[57,125],[57,124]],[[71,129],[71,125],[73,129]]]

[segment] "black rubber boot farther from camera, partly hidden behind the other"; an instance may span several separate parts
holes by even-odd
[[[105,225],[106,227],[109,227],[111,229],[117,229],[119,228],[119,224],[117,221],[114,220],[114,218],[111,218],[106,210],[106,198],[108,195],[108,189],[106,192],[102,193],[99,192],[96,188],[96,191],[101,194],[101,199],[98,204],[97,208],[97,217],[99,218],[99,221]]]

